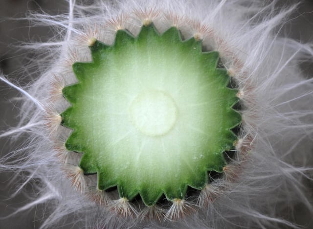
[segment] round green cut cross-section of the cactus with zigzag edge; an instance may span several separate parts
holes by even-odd
[[[73,65],[78,83],[63,89],[71,106],[61,116],[73,130],[67,149],[83,153],[80,167],[97,173],[98,189],[117,186],[120,197],[139,193],[153,206],[223,171],[241,115],[218,52],[153,24],[137,37],[118,30],[112,46],[95,41],[90,50],[92,62]]]

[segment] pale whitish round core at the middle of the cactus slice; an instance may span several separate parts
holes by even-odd
[[[162,136],[175,125],[177,106],[164,91],[150,90],[138,94],[130,107],[130,115],[136,128],[147,136]]]

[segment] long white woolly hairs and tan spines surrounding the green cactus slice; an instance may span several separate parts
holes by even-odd
[[[292,213],[286,215],[285,209],[293,212],[300,205],[308,216],[313,214],[304,184],[312,181],[313,171],[313,79],[305,78],[299,68],[301,61],[312,62],[313,46],[275,34],[296,6],[277,11],[278,0],[267,5],[263,0],[68,2],[67,16],[28,18],[53,31],[66,31],[45,45],[24,46],[46,53],[49,61],[39,55],[25,70],[29,80],[33,74],[40,73],[40,77],[27,89],[0,77],[23,98],[19,125],[0,137],[28,137],[22,136],[21,149],[0,158],[0,170],[15,172],[21,187],[42,182],[34,184],[35,193],[16,210],[16,216],[49,202],[42,212],[42,228],[62,227],[74,217],[73,225],[78,228],[222,229],[297,228],[299,222]],[[116,190],[107,193],[97,190],[96,182],[87,182],[78,166],[81,154],[68,152],[64,146],[70,130],[60,125],[59,115],[69,106],[62,89],[77,82],[72,64],[91,61],[89,46],[96,39],[111,45],[119,29],[136,36],[142,25],[150,23],[159,32],[175,26],[184,40],[194,37],[202,41],[203,51],[220,53],[238,87],[243,117],[235,156],[224,173],[210,178],[196,198],[174,199],[164,207],[118,198]],[[37,69],[32,72],[34,66]],[[22,191],[19,186],[16,189]]]

